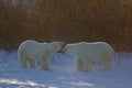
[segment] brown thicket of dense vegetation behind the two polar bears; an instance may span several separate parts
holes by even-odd
[[[25,40],[108,42],[132,51],[132,0],[0,0],[0,48]]]

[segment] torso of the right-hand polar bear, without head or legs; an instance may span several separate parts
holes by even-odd
[[[114,51],[113,48],[106,42],[95,42],[95,43],[79,43],[77,47],[79,47],[79,51],[82,55],[82,57],[89,57],[89,58],[98,58],[100,56],[109,55],[110,58],[113,58]],[[110,59],[111,61],[111,59]]]

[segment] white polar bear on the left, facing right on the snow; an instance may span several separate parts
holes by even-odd
[[[47,70],[47,61],[52,53],[61,51],[64,46],[62,42],[38,43],[32,40],[20,44],[18,55],[22,67],[26,67],[29,62],[31,67],[35,67],[35,61],[40,63],[41,69]]]

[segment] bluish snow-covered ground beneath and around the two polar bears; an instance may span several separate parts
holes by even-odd
[[[0,51],[0,88],[132,88],[131,53],[117,53],[111,70],[91,73],[76,72],[76,59],[66,57],[47,72],[21,68],[16,51]]]

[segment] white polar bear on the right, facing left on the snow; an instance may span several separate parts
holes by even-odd
[[[113,48],[105,42],[67,44],[63,52],[77,55],[78,70],[84,72],[91,72],[97,63],[102,65],[101,70],[110,69],[114,54]]]

